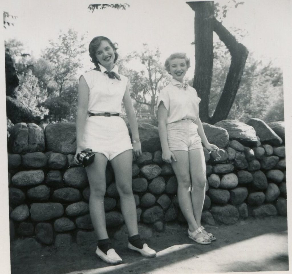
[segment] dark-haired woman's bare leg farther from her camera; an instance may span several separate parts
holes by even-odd
[[[137,211],[132,190],[132,158],[132,150],[126,150],[111,160],[129,237],[138,234]]]

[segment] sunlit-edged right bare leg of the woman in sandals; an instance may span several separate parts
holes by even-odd
[[[201,216],[206,193],[206,163],[203,149],[190,150],[189,161],[192,178],[192,206],[196,222],[198,226],[201,226]]]

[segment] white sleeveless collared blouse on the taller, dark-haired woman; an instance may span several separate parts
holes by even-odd
[[[117,65],[114,65],[112,71],[119,74],[121,80],[109,78],[104,73],[106,71],[105,67],[101,65],[100,70],[91,70],[82,74],[89,88],[88,112],[121,113],[121,103],[128,84],[128,78],[119,74]]]

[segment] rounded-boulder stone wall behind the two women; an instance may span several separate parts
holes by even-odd
[[[110,119],[110,118],[109,118]],[[240,218],[287,215],[284,122],[259,119],[204,124],[221,159],[208,154],[202,223],[231,225]],[[185,222],[177,180],[161,159],[158,129],[139,124],[142,155],[133,159],[133,192],[139,231],[150,237],[170,221]],[[15,124],[8,140],[11,240],[30,245],[68,246],[94,240],[85,169],[73,162],[74,123]],[[106,169],[106,224],[114,237],[126,235],[110,164]]]

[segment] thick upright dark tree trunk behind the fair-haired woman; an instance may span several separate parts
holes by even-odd
[[[193,87],[201,98],[199,116],[210,122],[209,96],[213,73],[213,17],[214,2],[187,2],[195,11],[195,71]]]

